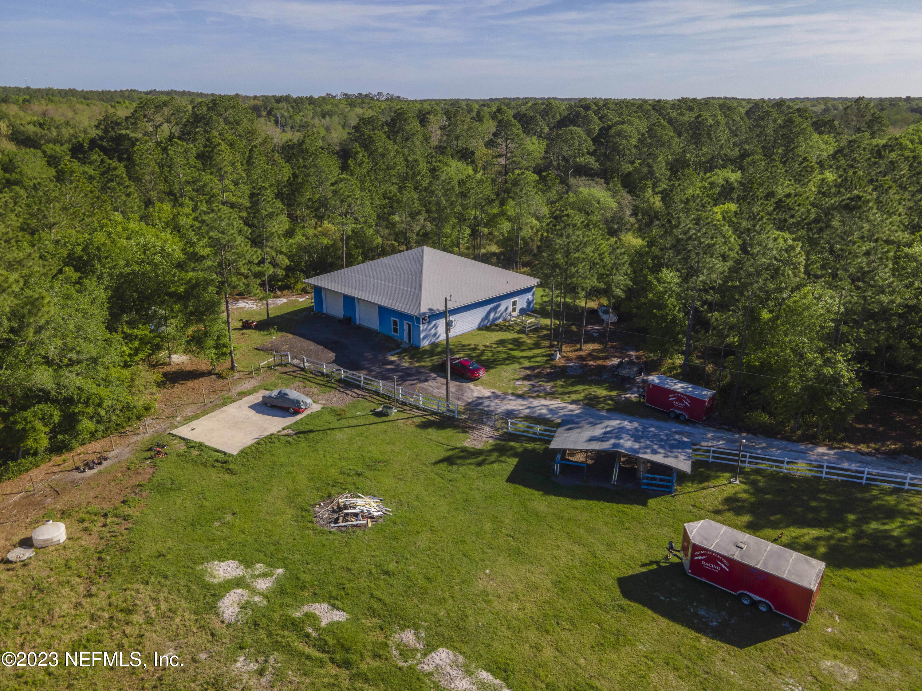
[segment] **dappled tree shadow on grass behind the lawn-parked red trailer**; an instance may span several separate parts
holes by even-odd
[[[757,471],[723,500],[751,533],[786,531],[781,544],[832,568],[898,568],[922,561],[922,497],[857,483]],[[793,529],[793,530],[787,530]]]

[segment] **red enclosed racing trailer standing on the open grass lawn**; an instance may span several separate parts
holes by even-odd
[[[682,564],[696,579],[806,624],[826,565],[715,521],[685,523]]]

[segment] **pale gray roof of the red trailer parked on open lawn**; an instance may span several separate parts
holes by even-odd
[[[751,567],[780,576],[815,591],[826,568],[825,562],[802,555],[793,549],[774,545],[760,537],[743,533],[721,523],[704,519],[685,523],[691,542],[729,556]],[[739,546],[743,545],[743,546]]]

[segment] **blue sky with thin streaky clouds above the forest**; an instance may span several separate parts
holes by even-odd
[[[920,96],[922,2],[4,3],[0,83],[409,98]]]

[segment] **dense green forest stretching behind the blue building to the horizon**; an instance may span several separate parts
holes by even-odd
[[[739,424],[834,437],[865,392],[922,398],[920,113],[0,88],[0,463],[144,415],[164,351],[233,367],[229,296],[422,244],[573,322],[613,305]]]

